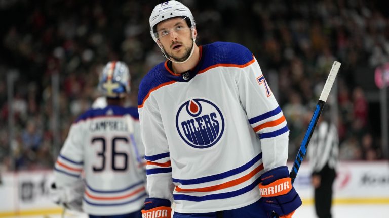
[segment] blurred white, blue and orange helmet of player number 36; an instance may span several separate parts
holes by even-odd
[[[131,76],[127,65],[121,61],[108,62],[99,78],[99,89],[111,98],[124,97],[130,92]]]

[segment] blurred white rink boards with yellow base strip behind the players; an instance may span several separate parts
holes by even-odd
[[[290,163],[290,166],[292,163]],[[62,209],[52,203],[49,187],[53,171],[3,173],[0,184],[0,217],[60,214]],[[294,183],[303,204],[312,204],[310,166],[304,162]],[[389,162],[342,162],[334,184],[334,203],[388,204]]]

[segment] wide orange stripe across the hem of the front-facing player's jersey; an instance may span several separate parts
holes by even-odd
[[[255,176],[259,171],[263,170],[263,164],[261,163],[258,167],[256,167],[254,170],[252,170],[250,173],[246,174],[245,176],[231,180],[226,183],[222,183],[220,185],[214,185],[214,186],[209,186],[209,187],[204,187],[204,188],[194,188],[194,189],[182,189],[178,186],[176,186],[176,191],[177,192],[210,192],[210,191],[216,191],[220,189],[225,189],[229,188],[232,186],[236,186],[238,184],[241,184],[247,180],[249,180],[251,177]]]

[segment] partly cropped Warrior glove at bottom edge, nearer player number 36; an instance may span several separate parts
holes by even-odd
[[[170,200],[161,198],[146,198],[142,218],[171,218]]]

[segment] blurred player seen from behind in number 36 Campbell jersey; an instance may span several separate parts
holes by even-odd
[[[82,204],[90,217],[141,217],[146,192],[139,116],[137,108],[123,107],[130,79],[124,62],[105,65],[99,88],[107,106],[92,108],[72,124],[55,164],[59,203],[71,205],[77,194],[72,187],[83,174]]]

